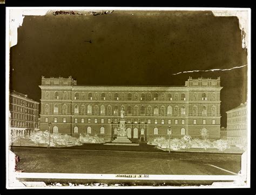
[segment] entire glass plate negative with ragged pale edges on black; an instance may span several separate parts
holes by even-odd
[[[6,187],[250,187],[250,16],[8,8]]]

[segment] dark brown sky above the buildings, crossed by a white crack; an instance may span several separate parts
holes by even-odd
[[[39,101],[42,75],[72,76],[78,85],[164,86],[184,86],[188,76],[220,76],[224,127],[225,112],[246,101],[247,67],[172,75],[246,65],[237,17],[208,11],[75,13],[25,16],[11,48],[11,89]]]

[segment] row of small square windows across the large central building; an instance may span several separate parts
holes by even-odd
[[[153,124],[159,124],[159,120],[158,119],[154,119],[154,120],[152,120],[153,121]],[[147,120],[147,124],[151,124],[151,119],[148,119]],[[49,122],[49,120],[48,120],[48,117],[46,117],[45,118],[45,122]],[[54,119],[53,119],[53,122],[55,122],[55,123],[57,123],[58,121],[57,121],[57,117],[55,117]],[[63,123],[66,123],[66,118],[64,117],[63,118],[63,120],[62,120],[62,122]],[[78,119],[77,118],[75,118],[75,121],[74,121],[75,123],[78,123]],[[80,119],[80,121],[79,121],[80,123],[84,123],[85,121],[84,121],[84,119],[82,118],[82,119]],[[91,123],[92,121],[91,121],[91,119],[87,119],[87,123]],[[94,119],[94,123],[105,123],[106,121],[104,120],[104,119],[100,119],[99,121],[98,121],[98,119]],[[118,120],[117,119],[114,119],[114,120],[111,120],[111,119],[107,119],[107,123],[118,123]],[[140,123],[142,123],[142,124],[144,124],[144,120],[140,120]],[[172,124],[172,120],[171,119],[169,119],[169,120],[167,120],[167,121],[165,121],[164,119],[161,119],[160,120],[160,124],[166,124],[166,122],[167,122],[167,124]],[[212,120],[212,124],[215,124],[215,120]],[[132,123],[131,122],[131,119],[127,119],[127,123]],[[133,123],[134,124],[137,124],[137,123],[139,123],[138,122],[138,119],[134,119],[133,120]],[[178,119],[175,119],[174,120],[174,124],[179,124],[179,120]],[[185,124],[185,120],[181,120],[181,124]],[[198,120],[196,120],[196,119],[194,119],[193,120],[193,124],[199,124],[198,123]],[[205,119],[203,119],[202,120],[202,123],[201,124],[206,124],[206,120]]]

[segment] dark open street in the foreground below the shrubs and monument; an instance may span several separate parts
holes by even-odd
[[[18,170],[49,173],[235,175],[241,155],[193,152],[13,148]]]

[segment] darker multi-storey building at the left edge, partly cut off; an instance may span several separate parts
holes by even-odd
[[[23,137],[38,129],[39,102],[28,95],[9,90],[9,127]]]

